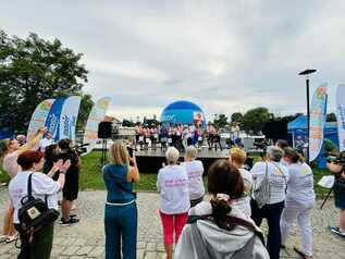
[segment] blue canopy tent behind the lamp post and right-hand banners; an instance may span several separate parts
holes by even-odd
[[[307,137],[307,115],[300,115],[296,118],[294,121],[287,123],[287,134],[292,136],[293,145],[297,136],[301,136],[303,138]],[[323,139],[330,139],[336,147],[338,147],[338,138],[337,138],[337,124],[336,122],[326,122],[324,123],[323,128]],[[324,157],[324,148],[322,147],[320,155],[318,157],[318,165],[320,169],[325,168],[325,157]]]

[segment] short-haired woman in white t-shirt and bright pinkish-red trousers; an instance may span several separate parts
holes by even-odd
[[[162,220],[167,259],[172,259],[174,233],[178,242],[190,208],[188,175],[184,166],[177,164],[180,152],[169,147],[165,152],[168,165],[160,169],[157,176],[157,189],[160,193],[159,213]]]

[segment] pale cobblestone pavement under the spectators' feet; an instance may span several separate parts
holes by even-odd
[[[54,230],[54,242],[51,258],[104,258],[103,235],[103,200],[106,192],[82,192],[77,201],[76,213],[81,222],[73,226],[61,227],[58,223]],[[137,258],[164,258],[162,231],[158,217],[158,198],[153,193],[138,194],[138,244]],[[8,199],[7,189],[0,190],[0,222]],[[319,205],[313,211],[313,250],[315,258],[345,258],[345,239],[332,235],[329,225],[337,222],[337,211],[333,200],[329,200],[320,211]],[[266,229],[266,226],[263,226]],[[288,238],[287,249],[281,252],[281,258],[298,258],[293,251],[298,246],[299,236],[295,229]],[[0,258],[16,258],[17,250],[12,244],[0,244]]]

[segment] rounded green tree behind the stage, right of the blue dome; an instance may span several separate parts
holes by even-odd
[[[271,113],[264,107],[258,107],[247,111],[243,116],[243,127],[248,133],[259,133],[264,123],[271,118]]]

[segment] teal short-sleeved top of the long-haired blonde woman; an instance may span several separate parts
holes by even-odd
[[[107,164],[103,181],[107,187],[107,201],[126,203],[135,199],[133,184],[127,181],[128,165]]]

